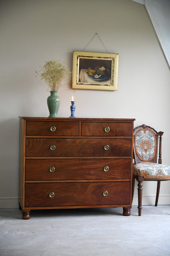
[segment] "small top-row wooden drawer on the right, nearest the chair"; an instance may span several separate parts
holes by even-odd
[[[82,122],[82,136],[131,136],[130,122]]]

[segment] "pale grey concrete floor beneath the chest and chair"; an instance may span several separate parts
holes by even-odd
[[[0,256],[170,256],[170,206],[0,209]]]

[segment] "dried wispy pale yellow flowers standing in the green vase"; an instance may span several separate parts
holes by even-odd
[[[60,60],[45,61],[44,65],[39,66],[40,70],[36,74],[40,75],[41,80],[44,80],[50,91],[58,91],[64,85],[64,82],[69,82],[71,72],[65,67],[65,62]]]

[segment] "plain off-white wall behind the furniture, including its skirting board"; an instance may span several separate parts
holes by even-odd
[[[45,60],[72,70],[72,51],[83,51],[98,33],[110,53],[119,53],[118,90],[60,88],[59,117],[136,118],[164,131],[163,163],[170,165],[170,70],[144,7],[131,0],[6,0],[0,2],[0,207],[18,207],[18,116],[48,117],[47,86],[35,77]],[[105,52],[94,40],[86,51]],[[137,204],[137,188],[133,204]],[[145,182],[143,204],[153,204],[156,182]],[[170,182],[160,190],[170,203]]]

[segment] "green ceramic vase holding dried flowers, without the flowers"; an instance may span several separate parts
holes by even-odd
[[[57,96],[57,91],[50,91],[50,96],[47,98],[47,105],[49,109],[49,117],[58,117],[60,98]]]

